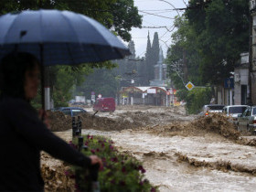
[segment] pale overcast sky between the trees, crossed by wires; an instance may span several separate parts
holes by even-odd
[[[164,2],[165,1],[165,2]],[[149,31],[151,43],[155,32],[158,33],[159,44],[163,48],[164,56],[166,56],[167,46],[172,43],[171,34],[168,30],[173,29],[174,17],[179,13],[182,15],[184,11],[171,10],[176,8],[184,8],[188,0],[134,0],[134,5],[138,7],[139,14],[143,16],[143,28],[133,28],[132,39],[135,44],[136,56],[144,57],[147,34]],[[171,4],[171,5],[170,5]],[[167,27],[166,28],[144,28],[144,27]]]

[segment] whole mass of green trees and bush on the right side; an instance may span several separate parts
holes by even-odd
[[[240,53],[249,50],[248,0],[191,0],[177,16],[174,44],[168,49],[167,69],[187,112],[197,113],[211,97],[210,89],[184,90],[187,81],[211,86],[229,78]]]

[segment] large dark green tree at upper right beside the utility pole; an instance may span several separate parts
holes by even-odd
[[[186,14],[197,35],[199,69],[204,82],[220,84],[249,50],[248,0],[189,1]]]

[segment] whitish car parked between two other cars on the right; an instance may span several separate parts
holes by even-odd
[[[238,123],[238,116],[242,114],[249,106],[248,105],[228,105],[223,108],[223,113],[232,118],[232,123]]]

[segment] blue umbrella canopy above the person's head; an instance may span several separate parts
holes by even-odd
[[[0,16],[0,59],[14,50],[32,53],[44,66],[130,55],[121,40],[94,19],[70,11],[42,9]]]

